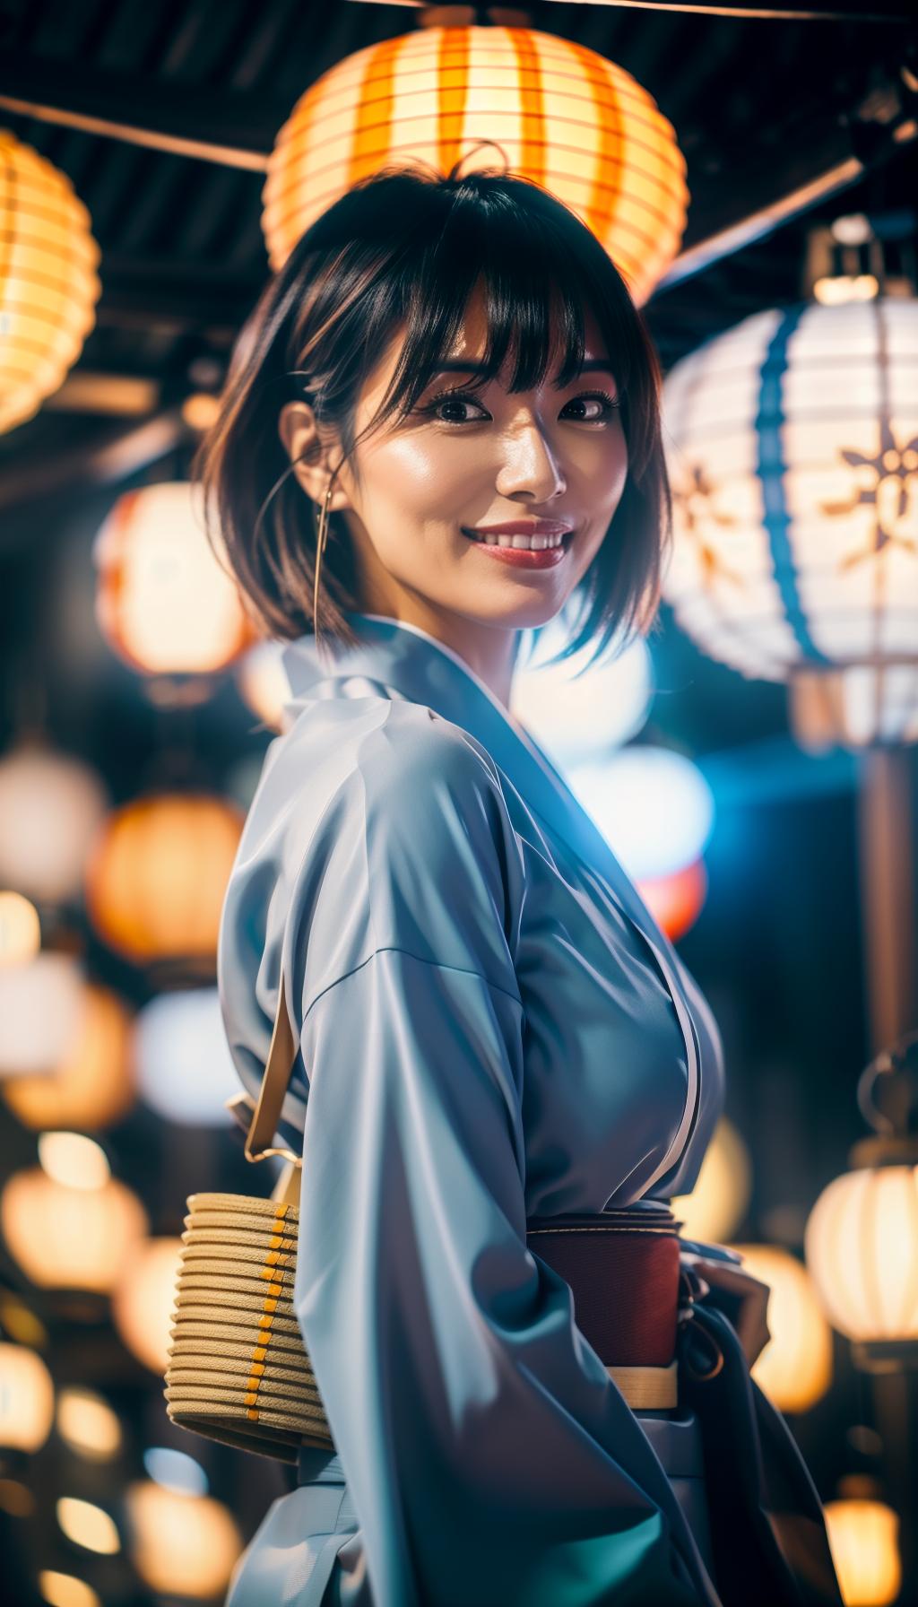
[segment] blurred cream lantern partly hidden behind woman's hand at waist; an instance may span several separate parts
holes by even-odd
[[[831,1384],[831,1331],[805,1268],[770,1244],[732,1244],[744,1271],[768,1284],[772,1339],[752,1364],[752,1377],[778,1411],[809,1411]]]

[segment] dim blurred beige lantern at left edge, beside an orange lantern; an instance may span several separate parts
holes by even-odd
[[[106,808],[88,765],[35,742],[13,749],[0,759],[0,882],[40,903],[76,897]]]

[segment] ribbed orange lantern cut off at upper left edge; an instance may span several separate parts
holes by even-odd
[[[101,284],[90,215],[64,174],[0,129],[0,434],[63,384]]]

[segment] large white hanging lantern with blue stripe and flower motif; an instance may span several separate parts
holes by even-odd
[[[804,746],[918,739],[918,301],[746,318],[664,384],[664,596],[703,652],[789,681]]]

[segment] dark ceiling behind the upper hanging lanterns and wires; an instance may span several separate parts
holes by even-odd
[[[672,121],[691,191],[683,249],[852,154],[867,164],[867,177],[833,201],[740,249],[717,247],[701,272],[656,291],[646,318],[664,368],[741,317],[799,296],[815,219],[912,202],[915,146],[897,145],[891,130],[915,116],[915,37],[904,6],[860,10],[875,19],[529,5],[534,27],[617,61]],[[79,371],[154,381],[154,415],[219,382],[268,272],[264,175],[48,119],[130,124],[257,162],[322,72],[416,21],[412,5],[360,0],[0,0],[0,125],[68,174],[101,246],[101,301]],[[31,538],[39,503],[72,500],[80,484],[113,482],[124,464],[154,460],[156,434],[137,440],[137,426],[71,403],[64,387],[0,437],[2,545]],[[133,455],[106,455],[129,431]]]

